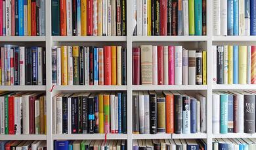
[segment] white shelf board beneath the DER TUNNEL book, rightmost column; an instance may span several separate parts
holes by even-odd
[[[213,138],[256,138],[256,134],[247,133],[227,133],[227,134],[213,134]]]

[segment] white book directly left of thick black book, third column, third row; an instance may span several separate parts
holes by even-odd
[[[148,92],[144,91],[144,126],[145,134],[150,134],[150,100]]]

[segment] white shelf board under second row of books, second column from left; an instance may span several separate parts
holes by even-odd
[[[127,85],[54,85],[56,91],[126,91]]]

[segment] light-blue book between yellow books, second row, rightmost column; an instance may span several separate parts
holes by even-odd
[[[233,46],[233,84],[238,84],[238,46]]]

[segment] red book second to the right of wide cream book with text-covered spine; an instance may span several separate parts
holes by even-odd
[[[158,46],[158,85],[163,85],[163,46]]]

